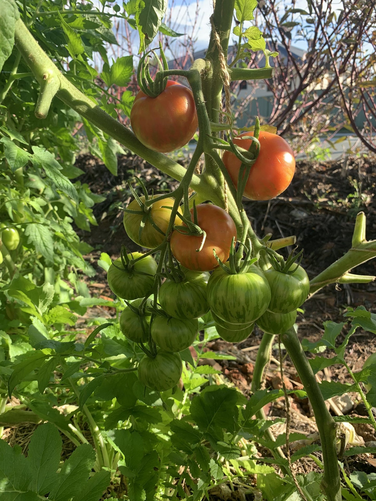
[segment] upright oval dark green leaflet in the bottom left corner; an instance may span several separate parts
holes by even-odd
[[[38,494],[50,492],[58,479],[62,445],[60,433],[51,423],[38,426],[31,437],[28,449],[28,462],[32,472],[30,488]]]

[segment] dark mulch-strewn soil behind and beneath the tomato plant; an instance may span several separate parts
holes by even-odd
[[[119,156],[118,175],[115,177],[109,173],[106,167],[96,158],[90,155],[78,157],[76,166],[84,170],[79,180],[87,183],[94,193],[106,196],[106,200],[96,204],[93,208],[98,226],[92,231],[78,230],[83,240],[94,247],[87,256],[97,275],[88,282],[93,296],[113,298],[106,282],[105,272],[97,266],[101,252],[117,258],[120,246],[126,245],[130,250],[138,247],[127,237],[123,224],[122,212],[118,205],[126,205],[131,200],[131,192],[128,181],[134,188],[140,188],[138,178],[142,178],[149,192],[165,192],[174,189],[176,181],[171,180],[164,174],[152,167],[147,162],[133,155]],[[181,162],[183,164],[183,162]],[[272,233],[272,238],[280,238],[296,235],[296,243],[304,249],[302,266],[310,278],[313,278],[323,269],[340,258],[351,246],[351,236],[355,216],[359,211],[364,211],[367,216],[367,239],[376,239],[376,157],[346,157],[340,162],[307,162],[300,161],[297,164],[296,174],[289,188],[271,201],[256,202],[245,200],[244,205],[251,219],[254,229],[259,236]],[[283,249],[285,257],[291,248]],[[376,275],[376,260],[371,260],[356,269],[361,275]],[[298,336],[309,341],[317,341],[323,333],[323,322],[343,321],[344,310],[363,305],[367,310],[376,313],[376,283],[351,284],[339,286],[327,286],[314,295],[305,305],[304,313],[298,316]],[[87,315],[80,319],[84,324],[89,317],[111,316],[111,308],[106,311],[101,309],[88,311]],[[338,337],[341,343],[345,332]],[[232,381],[245,395],[250,393],[253,364],[256,359],[257,347],[261,341],[262,332],[255,329],[254,335],[238,345],[232,345],[225,341],[215,341],[208,349],[231,353],[236,356],[236,361],[207,360],[207,363],[215,364],[216,368],[223,372],[223,376]],[[352,371],[361,369],[364,359],[376,352],[376,339],[373,334],[358,330],[352,336],[347,347],[347,363]],[[285,352],[283,351],[283,355]],[[322,353],[323,356],[333,356],[329,350]],[[272,358],[266,371],[265,385],[271,388],[281,388],[279,374],[279,351],[278,345],[273,346]],[[342,366],[334,365],[317,376],[322,379],[333,379],[341,383],[350,382],[350,378]],[[289,389],[301,388],[299,378],[288,357],[284,360],[284,382]],[[343,413],[365,415],[365,409],[358,402],[356,394],[350,396],[346,402],[337,402]],[[334,400],[334,399],[333,399]],[[333,404],[333,405],[331,405]],[[335,402],[328,403],[330,411],[335,414]],[[337,409],[338,409],[337,406]],[[286,409],[284,398],[264,408],[266,414],[271,417],[285,417]],[[290,399],[291,430],[309,435],[316,431],[314,417],[308,400]],[[276,424],[272,427],[275,434],[284,431],[283,426]],[[373,428],[369,426],[357,426],[356,432],[365,442],[376,440]],[[26,434],[30,433],[28,429]],[[11,435],[14,439],[14,433]],[[69,448],[69,447],[68,447]],[[264,452],[261,450],[261,452]],[[270,455],[265,450],[266,455]],[[320,454],[317,454],[320,457]],[[317,469],[312,459],[296,461],[294,468],[297,473],[307,473]],[[371,454],[352,456],[346,461],[348,471],[361,469],[367,473],[376,471],[375,459]],[[223,493],[213,493],[212,499],[220,499]],[[236,494],[233,493],[234,495]],[[244,495],[244,494],[243,494]],[[239,496],[238,496],[239,497]],[[240,496],[242,497],[242,496]],[[235,499],[229,497],[229,499]],[[253,499],[253,496],[246,496]]]

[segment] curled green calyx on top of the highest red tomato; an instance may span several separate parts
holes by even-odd
[[[161,94],[167,85],[168,77],[163,76],[163,71],[168,70],[167,60],[163,52],[162,44],[159,42],[159,50],[160,56],[162,58],[162,62],[156,56],[153,49],[147,51],[144,56],[140,59],[137,68],[137,82],[141,89],[141,91],[149,97],[156,98]],[[149,71],[149,58],[151,54],[155,57],[155,60],[158,63],[158,70],[154,80],[151,78]],[[163,64],[162,64],[163,63]]]

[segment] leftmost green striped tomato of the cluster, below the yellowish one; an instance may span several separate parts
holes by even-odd
[[[142,256],[139,252],[128,254],[129,259],[137,259]],[[119,270],[116,266],[121,268]],[[132,300],[144,298],[154,285],[154,275],[157,264],[152,256],[137,261],[132,271],[125,270],[118,258],[110,266],[107,272],[107,282],[111,291],[119,298]],[[124,271],[122,271],[124,270]],[[138,273],[139,272],[139,273]],[[142,275],[142,274],[147,275]]]

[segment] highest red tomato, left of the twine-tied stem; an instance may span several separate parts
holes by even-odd
[[[156,98],[137,94],[130,112],[137,139],[148,148],[168,153],[192,139],[198,127],[191,89],[172,80]]]

